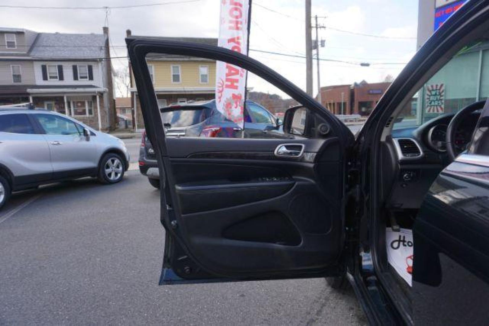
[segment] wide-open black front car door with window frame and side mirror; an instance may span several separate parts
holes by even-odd
[[[207,44],[126,41],[160,174],[166,230],[160,284],[344,273],[351,131],[298,87],[240,53]],[[222,61],[277,87],[298,103],[285,116],[289,136],[166,137],[148,71],[149,61],[165,56],[205,62],[211,70]]]

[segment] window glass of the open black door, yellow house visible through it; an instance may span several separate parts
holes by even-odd
[[[287,109],[299,103],[263,78],[228,64],[219,75],[222,65],[218,61],[198,57],[149,53],[146,62],[157,76],[153,83],[155,103],[167,104],[160,112],[168,137],[289,138],[277,125],[276,117],[283,117]],[[178,85],[174,83],[176,66]],[[204,79],[200,78],[200,66],[206,67]],[[244,80],[246,86],[240,88]],[[234,87],[244,92],[228,91]],[[208,110],[195,108],[199,106]],[[139,111],[138,99],[136,107]],[[233,121],[231,112],[241,112],[241,119]],[[142,116],[136,114],[136,118],[138,129],[144,129]]]

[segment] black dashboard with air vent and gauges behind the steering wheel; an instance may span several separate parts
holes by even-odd
[[[460,152],[467,148],[479,113],[463,121],[455,133]],[[392,130],[382,145],[382,198],[391,209],[418,209],[440,172],[450,164],[446,130],[454,114],[432,119],[419,127]]]

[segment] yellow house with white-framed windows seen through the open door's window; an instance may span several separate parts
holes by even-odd
[[[130,31],[128,31],[128,35],[130,35]],[[211,38],[161,37],[155,39],[217,45],[217,39]],[[146,61],[155,88],[158,107],[211,100],[215,97],[215,60],[155,53],[149,54]],[[129,69],[131,74],[131,101],[137,112],[135,124],[137,124],[138,129],[142,129],[144,128],[144,121],[131,65],[129,65]]]

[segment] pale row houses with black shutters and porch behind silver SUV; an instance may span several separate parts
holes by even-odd
[[[109,30],[37,33],[0,28],[0,105],[33,103],[97,130],[115,126]]]

